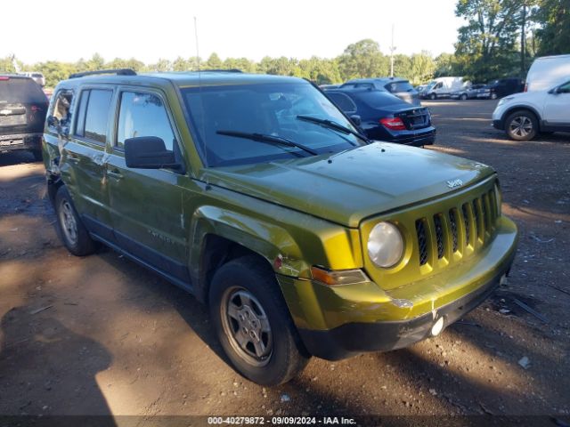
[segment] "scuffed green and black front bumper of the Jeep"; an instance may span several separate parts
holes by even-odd
[[[337,360],[419,342],[439,318],[444,318],[444,327],[451,325],[499,285],[516,249],[517,227],[503,216],[493,242],[476,258],[406,286],[383,290],[373,282],[324,286],[310,280],[279,281],[305,348],[319,358]]]

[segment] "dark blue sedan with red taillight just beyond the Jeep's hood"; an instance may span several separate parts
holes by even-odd
[[[411,107],[391,93],[354,88],[327,91],[330,101],[357,124],[371,140],[397,142],[416,147],[436,141],[436,128],[429,110]]]

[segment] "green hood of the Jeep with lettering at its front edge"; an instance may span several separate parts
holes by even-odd
[[[465,158],[374,142],[337,155],[208,168],[200,179],[356,228],[371,215],[440,197],[492,173]]]

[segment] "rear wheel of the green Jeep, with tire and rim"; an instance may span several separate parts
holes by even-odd
[[[64,185],[55,193],[55,214],[58,233],[68,251],[77,256],[93,254],[97,244],[81,222],[69,191]]]

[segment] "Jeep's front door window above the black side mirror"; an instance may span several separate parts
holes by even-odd
[[[118,113],[117,147],[124,148],[125,140],[139,136],[157,136],[172,150],[175,133],[168,119],[167,109],[153,93],[121,93]]]

